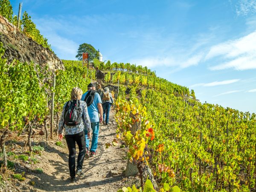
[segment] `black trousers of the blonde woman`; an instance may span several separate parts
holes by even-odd
[[[76,170],[82,170],[85,154],[85,137],[84,131],[78,134],[65,135],[67,141],[67,147],[69,151],[68,166],[70,170],[70,177],[76,177],[75,166],[76,166],[76,143],[79,148],[79,154],[77,157]]]

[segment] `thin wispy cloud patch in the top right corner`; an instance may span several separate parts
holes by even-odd
[[[236,6],[236,14],[246,16],[256,12],[256,0],[239,0]]]

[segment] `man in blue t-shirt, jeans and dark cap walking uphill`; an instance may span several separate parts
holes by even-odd
[[[99,136],[99,123],[102,122],[102,100],[99,96],[99,93],[96,92],[96,85],[93,83],[88,84],[87,86],[88,91],[85,92],[82,95],[81,100],[86,101],[87,103],[87,108],[88,108],[88,113],[90,117],[90,123],[91,123],[91,128],[93,130],[92,134],[92,143],[90,146],[90,156],[93,157],[96,155],[96,149],[98,145],[98,136]],[[99,117],[100,114],[100,117]],[[85,131],[85,137],[87,136],[87,130]],[[86,140],[86,148],[87,150],[89,149],[89,140]],[[86,157],[88,157],[86,155]]]

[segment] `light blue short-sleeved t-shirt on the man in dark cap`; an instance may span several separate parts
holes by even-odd
[[[84,101],[85,96],[87,95],[88,91],[86,91],[83,95],[81,100]],[[102,103],[99,93],[95,93],[93,103],[87,107],[90,122],[99,122],[99,111],[98,111],[98,103]]]

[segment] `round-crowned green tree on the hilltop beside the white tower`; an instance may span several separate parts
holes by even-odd
[[[76,58],[81,61],[83,52],[87,52],[89,55],[89,61],[93,61],[94,58],[97,58],[99,55],[99,52],[91,45],[83,43],[79,45],[79,48],[77,50]]]

